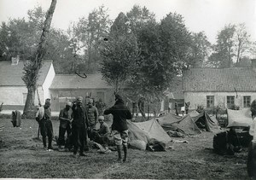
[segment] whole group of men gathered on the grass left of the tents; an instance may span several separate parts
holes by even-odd
[[[118,161],[126,161],[128,141],[126,119],[131,119],[131,111],[125,106],[122,96],[118,94],[115,94],[115,104],[113,107],[109,107],[105,111],[103,107],[102,101],[97,102],[96,106],[94,106],[92,99],[84,107],[82,96],[78,96],[75,102],[67,102],[66,107],[61,109],[59,114],[58,149],[64,148],[67,151],[73,151],[74,156],[77,156],[78,152],[80,156],[86,156],[84,152],[89,151],[89,139],[90,141],[101,143],[103,147],[107,148],[109,136],[112,134],[119,155]],[[107,123],[104,122],[104,115],[108,114],[113,115],[111,131]],[[52,151],[53,126],[51,122],[50,99],[45,100],[44,107],[38,108],[36,119],[43,136],[44,149]],[[100,128],[96,129],[98,121]],[[65,138],[66,132],[67,138]],[[48,136],[48,146],[46,136]],[[121,156],[122,145],[125,153],[123,160]]]

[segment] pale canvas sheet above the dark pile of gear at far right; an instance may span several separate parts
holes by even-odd
[[[228,109],[228,126],[227,127],[248,127],[253,123],[251,111],[249,108],[241,110]]]

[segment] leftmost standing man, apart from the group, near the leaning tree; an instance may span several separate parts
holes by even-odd
[[[42,116],[42,119],[40,118],[40,116]],[[50,118],[51,118],[51,109],[50,109],[50,99],[48,98],[45,100],[44,112],[42,112],[41,114],[37,114],[36,116],[36,119],[39,123],[41,135],[43,136],[44,149],[47,151],[53,150],[51,146],[52,137],[53,137],[53,128],[52,128],[52,123]],[[48,148],[46,146],[46,136],[48,136]]]

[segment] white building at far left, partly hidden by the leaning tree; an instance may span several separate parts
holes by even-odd
[[[23,110],[27,89],[21,79],[23,75],[24,61],[19,58],[12,58],[12,61],[0,61],[0,104],[3,102],[3,109]],[[44,61],[38,77],[38,94],[41,103],[50,98],[49,85],[55,77],[55,70],[52,61]],[[35,105],[38,105],[36,93]]]

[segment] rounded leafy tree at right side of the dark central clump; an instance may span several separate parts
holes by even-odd
[[[176,13],[166,15],[160,22],[160,42],[162,61],[171,63],[172,73],[189,67],[190,32],[186,28],[183,16]]]

